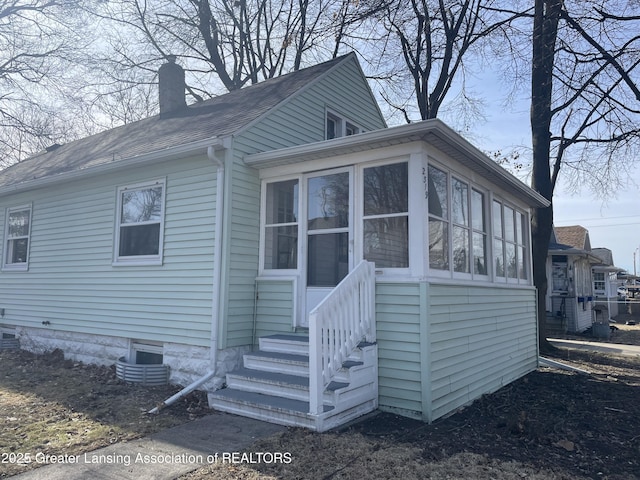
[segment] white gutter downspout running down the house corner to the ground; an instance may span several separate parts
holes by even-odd
[[[164,402],[158,404],[147,413],[157,414],[160,410],[172,405],[177,400],[185,397],[189,393],[193,392],[203,383],[211,380],[217,371],[218,361],[218,327],[220,318],[220,285],[222,281],[222,228],[224,217],[224,173],[225,173],[225,153],[231,146],[230,139],[224,138],[222,141],[218,141],[215,144],[207,147],[207,157],[217,167],[216,171],[216,226],[215,226],[215,238],[213,244],[213,288],[211,294],[211,353],[210,353],[210,368],[209,371],[201,378],[180,390],[172,397],[166,399]]]

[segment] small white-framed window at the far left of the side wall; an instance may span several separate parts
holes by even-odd
[[[4,268],[27,270],[31,236],[31,205],[9,208],[6,217]]]

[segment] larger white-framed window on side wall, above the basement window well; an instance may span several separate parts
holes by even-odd
[[[116,263],[162,262],[165,181],[118,189]]]

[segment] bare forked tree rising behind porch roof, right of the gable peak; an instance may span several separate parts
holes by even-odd
[[[452,90],[457,86],[458,108],[476,116],[475,100],[465,89],[469,65],[478,66],[481,43],[494,33],[502,33],[520,14],[496,8],[493,0],[410,0],[388,5],[384,21],[400,45],[404,64],[399,68],[411,84],[412,96],[421,119],[435,118]],[[392,52],[389,52],[393,55]],[[387,57],[388,58],[388,57]],[[396,65],[398,68],[398,65]],[[402,77],[402,75],[400,75]],[[406,91],[406,90],[405,90]],[[400,101],[398,101],[398,99]],[[385,100],[411,120],[413,102],[387,95]]]

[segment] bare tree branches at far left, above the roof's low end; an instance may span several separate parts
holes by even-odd
[[[82,19],[71,0],[0,0],[0,166],[71,134],[61,102]]]

